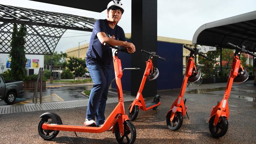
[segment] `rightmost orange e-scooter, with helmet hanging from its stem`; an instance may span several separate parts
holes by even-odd
[[[209,129],[211,135],[215,138],[223,137],[228,131],[228,98],[230,96],[233,82],[243,83],[249,77],[248,72],[241,65],[240,55],[242,53],[246,53],[256,57],[256,55],[252,54],[248,50],[245,50],[245,46],[242,46],[242,48],[240,48],[239,46],[236,46],[229,42],[227,44],[236,48],[236,52],[233,56],[234,60],[232,62],[232,67],[230,69],[228,83],[226,85],[226,90],[223,99],[221,101],[218,101],[216,106],[211,107]]]

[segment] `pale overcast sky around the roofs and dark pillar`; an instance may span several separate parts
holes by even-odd
[[[122,0],[124,14],[118,23],[124,33],[131,33],[131,0]],[[0,0],[0,4],[69,13],[95,19],[107,18],[107,11],[101,13],[75,9],[30,0]],[[256,10],[256,0],[158,0],[158,36],[192,41],[195,31],[208,22],[233,17]],[[57,52],[65,52],[78,43],[89,42],[91,32],[67,30],[58,45]],[[84,36],[85,35],[85,36]],[[77,36],[77,37],[72,37]],[[82,42],[85,41],[85,42]]]

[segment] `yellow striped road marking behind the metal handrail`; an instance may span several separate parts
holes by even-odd
[[[40,101],[39,98],[37,98],[37,102],[39,102],[39,101]],[[59,102],[59,101],[64,101],[64,100],[60,96],[58,96],[57,94],[50,94],[50,95],[42,97],[42,102]],[[32,100],[27,100],[27,101],[15,103],[14,105],[28,104],[28,103],[32,103]]]

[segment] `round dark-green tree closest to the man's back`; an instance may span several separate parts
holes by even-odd
[[[86,72],[85,60],[78,59],[76,57],[70,57],[68,62],[69,62],[68,67],[69,67],[70,71],[74,71],[74,75],[76,77],[82,77],[83,74],[85,74],[85,72]]]

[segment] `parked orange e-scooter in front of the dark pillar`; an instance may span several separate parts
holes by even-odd
[[[137,118],[139,114],[139,109],[142,109],[143,111],[148,111],[149,109],[156,110],[156,108],[161,104],[159,95],[154,96],[152,101],[145,102],[142,96],[142,90],[144,88],[144,85],[147,79],[151,81],[156,79],[159,75],[158,68],[155,68],[153,66],[153,63],[152,63],[153,58],[157,57],[164,61],[166,61],[166,59],[163,57],[160,57],[159,55],[156,55],[156,52],[148,52],[146,50],[141,50],[141,52],[145,52],[146,54],[149,55],[149,57],[148,57],[148,61],[146,61],[146,69],[143,74],[143,78],[141,80],[141,85],[139,87],[139,91],[137,92],[137,96],[128,109],[129,110],[128,117],[132,121],[134,121]]]

